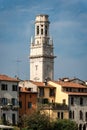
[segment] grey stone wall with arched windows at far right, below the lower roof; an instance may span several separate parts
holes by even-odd
[[[74,120],[78,126],[81,124],[84,126],[87,122],[86,120],[86,112],[87,112],[87,96],[73,96],[74,97],[74,105],[71,105],[69,96],[69,111],[72,112],[72,120]],[[80,105],[80,98],[83,98],[83,104]],[[83,118],[80,119],[80,111],[82,111]],[[73,118],[74,112],[74,118]],[[83,130],[83,128],[82,128]]]

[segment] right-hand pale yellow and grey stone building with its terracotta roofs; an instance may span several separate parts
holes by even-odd
[[[49,81],[56,87],[55,102],[68,106],[68,119],[78,124],[78,130],[87,129],[87,85],[81,80]]]

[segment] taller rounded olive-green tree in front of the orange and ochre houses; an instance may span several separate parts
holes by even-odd
[[[35,112],[27,118],[28,129],[48,130],[50,126],[49,117],[46,114]]]

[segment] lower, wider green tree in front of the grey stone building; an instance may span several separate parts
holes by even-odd
[[[53,130],[78,130],[78,126],[74,121],[71,120],[57,120],[52,123]]]

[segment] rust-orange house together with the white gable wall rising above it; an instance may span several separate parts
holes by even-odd
[[[19,83],[19,117],[32,114],[37,110],[37,87],[30,81]]]

